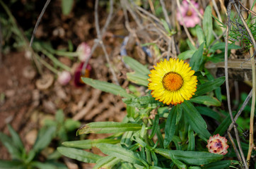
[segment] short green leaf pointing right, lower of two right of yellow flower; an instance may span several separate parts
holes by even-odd
[[[206,106],[221,106],[221,102],[213,96],[197,96],[190,99],[190,101],[197,104],[204,104]]]

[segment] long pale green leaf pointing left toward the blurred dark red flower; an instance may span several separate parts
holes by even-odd
[[[81,79],[86,84],[94,87],[95,89],[100,89],[103,92],[109,92],[109,93],[115,94],[117,96],[122,96],[122,97],[125,97],[125,98],[133,98],[134,97],[132,94],[127,94],[125,89],[118,86],[117,84],[112,84],[112,83],[109,83],[109,82],[103,82],[103,81],[100,81],[100,80],[93,80],[93,79],[87,78],[87,77],[81,77]]]

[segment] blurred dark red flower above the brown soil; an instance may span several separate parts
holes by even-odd
[[[91,71],[91,65],[88,63],[86,65],[86,70],[84,70],[84,73],[82,73],[83,69],[83,62],[79,65],[79,67],[76,69],[75,75],[74,75],[74,84],[76,87],[82,87],[84,86],[83,80],[81,80],[81,77],[89,77],[90,71]]]

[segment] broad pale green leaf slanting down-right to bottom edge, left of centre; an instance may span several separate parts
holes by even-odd
[[[104,154],[115,156],[122,159],[123,161],[138,164],[141,166],[149,166],[145,161],[141,161],[141,159],[137,156],[136,153],[134,153],[134,151],[131,151],[129,149],[124,149],[117,145],[105,143],[97,144],[97,147],[98,149],[100,149],[100,151],[103,151]]]

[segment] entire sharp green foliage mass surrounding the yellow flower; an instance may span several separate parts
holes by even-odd
[[[196,71],[197,92],[192,99],[177,106],[165,106],[149,93],[136,96],[122,87],[99,80],[82,78],[83,82],[124,97],[127,115],[122,123],[98,122],[81,127],[77,134],[114,133],[105,139],[88,139],[64,142],[58,150],[64,156],[85,163],[96,163],[94,168],[229,168],[238,161],[224,160],[223,155],[207,152],[206,141],[211,136],[202,115],[219,123],[212,134],[224,134],[231,124],[228,114],[213,111],[209,106],[221,106],[221,84],[224,77],[214,78],[206,68],[206,61],[223,60],[225,45],[214,42],[211,7],[204,12],[203,28],[196,27],[199,48],[188,43],[190,50],[180,54],[180,59],[190,58]],[[238,49],[230,45],[228,49]],[[216,54],[216,51],[221,53]],[[125,64],[134,70],[127,80],[147,87],[149,70],[133,58],[124,56]],[[196,105],[196,106],[194,106]],[[84,149],[97,147],[107,156],[99,156]],[[226,156],[234,156],[229,152]]]

